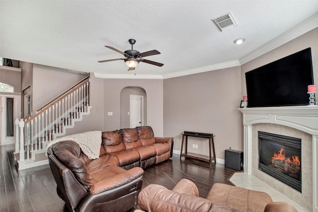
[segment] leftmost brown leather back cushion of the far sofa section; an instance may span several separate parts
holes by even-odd
[[[105,154],[122,151],[125,149],[120,131],[102,132],[101,145]]]

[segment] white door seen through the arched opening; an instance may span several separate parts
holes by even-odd
[[[143,125],[144,96],[130,95],[130,128]]]

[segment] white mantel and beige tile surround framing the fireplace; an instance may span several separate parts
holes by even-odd
[[[318,106],[240,108],[244,172],[309,211],[318,212]],[[258,170],[258,131],[302,139],[302,193]]]

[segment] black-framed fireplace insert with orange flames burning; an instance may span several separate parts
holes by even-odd
[[[258,169],[302,192],[301,142],[258,131]]]

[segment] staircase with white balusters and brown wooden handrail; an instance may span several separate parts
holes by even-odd
[[[23,170],[48,164],[45,155],[49,142],[65,136],[83,115],[90,113],[89,76],[37,110],[36,115],[16,119],[15,158]]]

